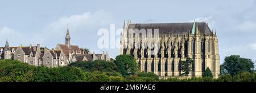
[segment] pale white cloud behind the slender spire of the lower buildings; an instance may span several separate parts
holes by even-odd
[[[73,43],[87,43],[96,39],[97,30],[109,26],[112,18],[105,11],[85,12],[81,15],[63,16],[49,23],[43,31],[35,37],[42,43],[64,43],[67,24]]]

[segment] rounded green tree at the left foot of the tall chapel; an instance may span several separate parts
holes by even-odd
[[[118,72],[120,72],[123,76],[132,75],[138,70],[138,64],[131,55],[118,55],[115,57],[114,63],[117,65]]]

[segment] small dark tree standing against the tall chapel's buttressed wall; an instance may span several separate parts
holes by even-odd
[[[191,72],[194,60],[191,58],[187,58],[185,61],[180,61],[180,70],[182,70],[184,73],[182,73],[180,76],[188,76],[189,72]]]

